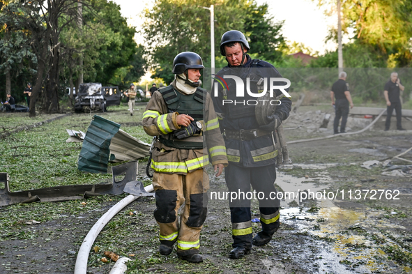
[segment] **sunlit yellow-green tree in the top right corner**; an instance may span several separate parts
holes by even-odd
[[[318,5],[328,7],[327,14],[335,16],[335,0],[319,0]],[[395,61],[392,66],[410,66],[412,1],[342,1],[342,15],[342,29],[354,30],[353,43]],[[335,38],[335,29],[328,38]]]

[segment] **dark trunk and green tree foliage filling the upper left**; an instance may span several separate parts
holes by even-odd
[[[79,73],[84,73],[86,82],[103,84],[113,80],[114,84],[121,84],[116,78],[119,71],[126,79],[138,79],[144,74],[142,47],[137,47],[133,40],[135,28],[127,25],[119,5],[112,1],[1,0],[0,3],[3,27],[0,35],[5,38],[0,45],[0,70],[3,73],[13,70],[15,74],[21,68],[11,66],[13,63],[36,70],[30,116],[36,114],[38,100],[43,111],[59,111],[61,80],[64,85],[68,80],[73,86]],[[26,61],[29,58],[31,63]],[[79,65],[80,59],[83,66]],[[139,68],[134,68],[135,65]]]

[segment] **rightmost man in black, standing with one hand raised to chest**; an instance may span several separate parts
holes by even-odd
[[[397,73],[390,73],[390,80],[385,84],[383,95],[386,100],[386,123],[385,131],[390,128],[390,119],[392,118],[393,109],[396,112],[396,128],[397,130],[405,130],[402,128],[402,105],[399,97],[400,91],[404,91],[401,80],[397,77]]]

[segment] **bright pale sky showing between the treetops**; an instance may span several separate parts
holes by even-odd
[[[128,19],[128,24],[140,29],[144,22],[142,11],[151,8],[154,0],[113,0],[121,7],[121,14]],[[305,44],[323,54],[326,50],[335,50],[335,43],[325,44],[328,26],[335,24],[332,18],[323,15],[323,11],[311,0],[256,0],[259,5],[268,3],[269,13],[275,21],[284,20],[283,35],[287,40]],[[205,10],[207,11],[207,10]],[[141,35],[135,36],[137,43],[144,43]]]

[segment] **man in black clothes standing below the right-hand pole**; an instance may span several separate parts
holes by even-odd
[[[349,92],[349,84],[346,83],[346,73],[342,71],[339,73],[339,79],[333,83],[332,90],[330,91],[330,100],[332,105],[335,106],[335,121],[333,122],[333,134],[345,133],[346,121],[348,120],[349,105],[353,107],[351,93]],[[339,120],[342,117],[340,123],[340,132],[337,131],[339,127]]]

